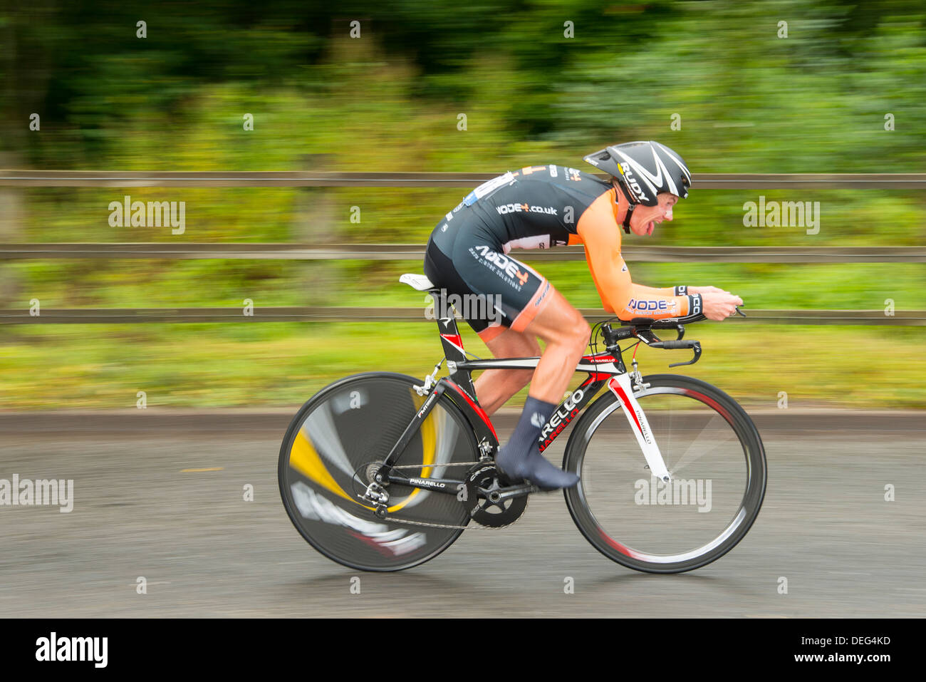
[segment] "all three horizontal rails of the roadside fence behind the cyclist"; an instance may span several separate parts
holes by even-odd
[[[0,186],[19,187],[464,187],[497,173],[353,173],[315,171],[108,171],[0,170]],[[607,177],[607,176],[602,176]],[[697,173],[699,189],[924,189],[926,173]],[[288,244],[14,244],[0,245],[0,259],[421,259],[422,245]],[[516,249],[525,259],[583,259],[581,246],[555,250]],[[679,262],[923,262],[919,246],[629,246],[638,261]],[[580,309],[590,320],[607,319],[603,309]],[[749,310],[734,323],[926,325],[926,310]],[[422,322],[420,308],[238,308],[203,309],[28,309],[0,310],[0,324],[87,324],[126,322]]]

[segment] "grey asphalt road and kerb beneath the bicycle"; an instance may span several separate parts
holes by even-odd
[[[74,480],[72,512],[0,506],[0,613],[922,617],[922,416],[754,414],[770,480],[749,535],[694,572],[645,575],[589,545],[560,494],[406,572],[346,569],[283,511],[284,411],[0,414],[0,479]],[[496,420],[499,436],[513,425]]]

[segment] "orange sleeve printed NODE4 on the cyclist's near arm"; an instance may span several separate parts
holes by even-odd
[[[700,309],[700,301],[694,305],[691,296],[674,296],[674,289],[663,292],[633,284],[620,256],[619,227],[607,200],[601,202],[601,208],[595,204],[598,202],[582,213],[576,231],[585,245],[585,258],[605,310],[615,312],[622,320],[636,317],[662,320],[684,317],[693,308]]]

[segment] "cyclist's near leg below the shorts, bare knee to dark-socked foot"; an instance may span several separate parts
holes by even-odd
[[[540,290],[538,295],[541,295]],[[540,454],[537,440],[544,423],[557,409],[592,330],[582,314],[552,286],[544,297],[547,300],[542,301],[541,306],[529,305],[511,325],[514,331],[540,336],[546,347],[534,370],[518,425],[506,446],[499,449],[495,461],[511,478],[527,479],[536,486],[556,489],[576,485],[579,477],[546,461]],[[530,312],[532,319],[524,319],[525,312]]]

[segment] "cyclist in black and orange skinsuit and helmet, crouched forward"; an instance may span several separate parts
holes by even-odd
[[[622,320],[686,322],[700,313],[723,320],[743,304],[714,286],[634,284],[620,256],[620,226],[627,234],[653,234],[657,224],[672,220],[675,203],[688,196],[691,173],[678,154],[657,142],[631,142],[584,160],[611,179],[549,164],[483,183],[434,228],[424,259],[425,274],[448,294],[493,295],[500,301],[483,317],[468,307],[467,322],[494,357],[541,356],[535,370],[487,370],[475,387],[482,408],[492,414],[531,384],[518,425],[495,463],[512,482],[527,480],[546,490],[579,482],[546,461],[537,441],[591,329],[540,272],[507,255],[511,248],[582,244],[605,310]],[[543,353],[537,337],[544,340]]]

